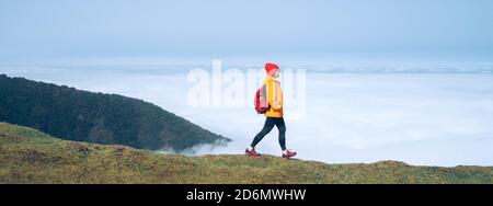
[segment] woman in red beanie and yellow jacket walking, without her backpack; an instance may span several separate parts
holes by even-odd
[[[267,135],[272,128],[277,126],[279,130],[279,145],[283,152],[283,158],[293,158],[296,156],[295,151],[286,149],[286,125],[283,118],[283,91],[280,82],[276,79],[279,77],[279,67],[275,64],[267,62],[265,65],[267,76],[263,82],[267,89],[268,111],[265,113],[266,119],[264,128],[255,136],[252,144],[245,150],[245,154],[250,157],[260,157],[255,151],[255,146]]]

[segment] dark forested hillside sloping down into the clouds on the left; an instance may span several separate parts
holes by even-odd
[[[153,150],[229,141],[137,99],[4,75],[0,75],[0,122],[37,128],[62,139]]]

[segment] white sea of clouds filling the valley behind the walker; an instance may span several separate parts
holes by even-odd
[[[187,81],[187,71],[196,67],[1,66],[0,73],[142,99],[233,140],[226,147],[199,146],[186,153],[242,153],[264,117],[251,105],[190,106],[186,95],[194,83]],[[286,121],[288,148],[301,159],[330,163],[391,159],[426,165],[493,165],[491,67],[376,68],[303,68],[306,114]],[[276,128],[257,150],[280,153]]]

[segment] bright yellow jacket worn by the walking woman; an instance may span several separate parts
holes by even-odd
[[[280,89],[280,82],[267,76],[263,84],[267,85],[267,102],[271,105],[265,116],[283,117],[283,90]]]

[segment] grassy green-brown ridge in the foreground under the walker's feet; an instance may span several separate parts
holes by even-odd
[[[61,140],[0,123],[0,183],[493,183],[493,168],[185,157]]]

